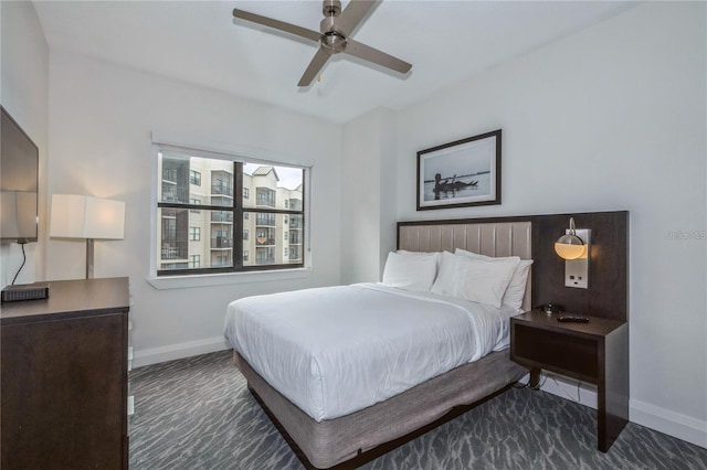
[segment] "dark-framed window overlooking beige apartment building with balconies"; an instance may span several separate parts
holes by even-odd
[[[158,276],[304,266],[306,169],[167,146],[157,156]]]

